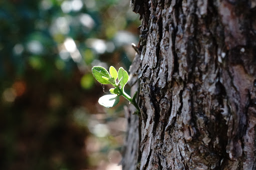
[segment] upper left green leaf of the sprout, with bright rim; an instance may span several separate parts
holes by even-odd
[[[107,70],[104,67],[100,66],[94,66],[91,69],[93,76],[95,79],[101,83],[101,84],[110,84],[110,82],[102,77],[106,77],[110,79],[110,74],[107,72]]]

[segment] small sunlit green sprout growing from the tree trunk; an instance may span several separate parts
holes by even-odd
[[[92,67],[92,74],[95,79],[101,84],[111,84],[114,88],[109,89],[111,94],[104,95],[98,99],[98,103],[106,108],[114,107],[119,102],[119,96],[123,96],[131,104],[133,104],[139,111],[137,103],[135,101],[136,93],[131,98],[124,92],[124,86],[128,81],[129,75],[122,67],[118,72],[113,66],[109,67],[109,72],[101,66]]]

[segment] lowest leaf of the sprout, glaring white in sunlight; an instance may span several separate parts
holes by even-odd
[[[106,108],[114,107],[119,102],[119,96],[116,94],[108,94],[98,99],[98,103]]]

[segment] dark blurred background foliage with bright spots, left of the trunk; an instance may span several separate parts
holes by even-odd
[[[0,0],[0,170],[121,169],[123,105],[90,70],[128,69],[138,25],[129,0]]]

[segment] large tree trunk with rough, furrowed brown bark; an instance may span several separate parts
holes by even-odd
[[[256,0],[131,0],[123,170],[256,170]],[[137,88],[138,87],[138,88]]]

